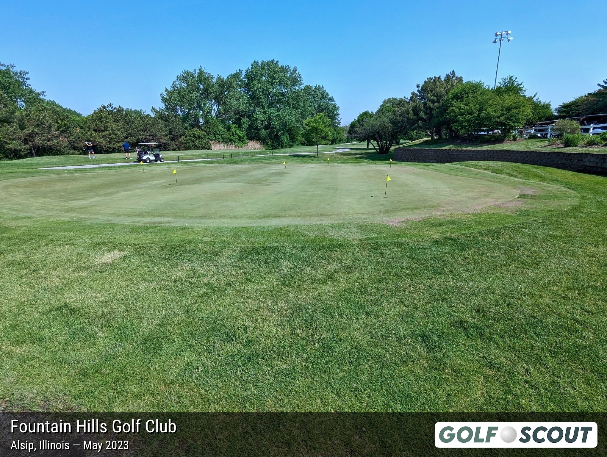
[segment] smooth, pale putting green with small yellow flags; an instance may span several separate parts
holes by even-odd
[[[275,163],[189,164],[178,166],[178,186],[173,169],[129,166],[0,181],[0,211],[172,225],[393,223],[504,205],[526,193],[512,178],[475,170],[448,174],[439,165],[294,163],[285,171]],[[392,180],[384,198],[387,174]]]

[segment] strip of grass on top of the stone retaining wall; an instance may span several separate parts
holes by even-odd
[[[460,141],[444,140],[433,144],[423,141],[417,144],[404,144],[396,147],[430,147],[436,149],[514,149],[517,151],[544,151],[544,152],[594,152],[607,153],[607,146],[592,147],[562,147],[550,146],[548,140],[519,140],[505,141],[504,143],[463,143]]]

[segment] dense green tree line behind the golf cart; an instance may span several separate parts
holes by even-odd
[[[275,149],[344,140],[334,98],[276,60],[226,77],[184,70],[151,113],[109,103],[83,116],[47,100],[27,75],[0,63],[0,158],[80,154],[87,140],[97,152],[121,151],[123,141],[192,150],[211,149],[211,141],[242,147],[256,140]]]

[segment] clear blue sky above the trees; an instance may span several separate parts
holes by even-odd
[[[348,123],[384,98],[455,69],[493,83],[493,33],[512,30],[500,75],[553,106],[607,78],[604,2],[0,2],[0,62],[84,114],[102,103],[150,109],[183,69],[228,75],[257,59],[322,84]]]

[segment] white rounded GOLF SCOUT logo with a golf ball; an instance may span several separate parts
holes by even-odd
[[[596,422],[436,422],[436,447],[597,447]]]

